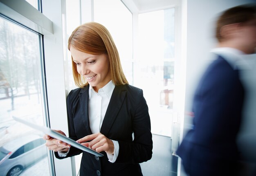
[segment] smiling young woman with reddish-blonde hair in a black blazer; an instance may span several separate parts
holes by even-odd
[[[83,24],[73,31],[68,49],[79,87],[67,97],[69,136],[104,156],[47,135],[46,146],[59,159],[83,152],[80,176],[142,176],[139,163],[148,161],[153,149],[148,106],[142,90],[128,84],[110,33],[99,23]]]

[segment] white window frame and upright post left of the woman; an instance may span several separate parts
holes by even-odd
[[[66,91],[63,59],[63,26],[65,0],[42,0],[42,11],[25,0],[0,0],[0,13],[6,18],[43,35],[42,58],[45,80],[45,124],[68,135]],[[50,175],[76,175],[74,157],[58,160],[48,152]],[[54,158],[54,161],[53,159]]]

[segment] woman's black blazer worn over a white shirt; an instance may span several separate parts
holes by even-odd
[[[92,134],[88,116],[88,91],[89,86],[77,88],[67,97],[69,136],[74,140]],[[100,132],[108,139],[118,141],[117,160],[110,163],[106,152],[101,152],[103,157],[83,152],[80,175],[142,176],[139,163],[152,157],[153,141],[148,106],[141,89],[128,84],[115,86]],[[81,152],[71,147],[66,157]],[[55,156],[63,158],[59,157],[57,152]]]

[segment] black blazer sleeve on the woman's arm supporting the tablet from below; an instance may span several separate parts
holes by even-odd
[[[74,128],[74,121],[73,121],[73,110],[74,103],[77,101],[77,97],[79,96],[78,89],[71,90],[70,93],[67,96],[67,116],[68,116],[68,126],[69,126],[69,138],[73,139],[74,141],[78,140],[76,134],[75,134],[75,128]],[[68,152],[67,156],[61,157],[58,156],[58,152],[54,152],[56,158],[63,159],[75,155],[81,154],[82,150],[77,149],[76,147],[70,147],[70,151]]]

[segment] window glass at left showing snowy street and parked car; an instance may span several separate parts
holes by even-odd
[[[0,173],[49,176],[43,134],[12,118],[44,125],[41,36],[0,18],[0,38]]]

